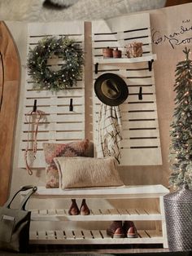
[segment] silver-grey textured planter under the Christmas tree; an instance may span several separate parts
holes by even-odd
[[[170,251],[192,249],[192,190],[187,186],[164,196],[165,221]]]

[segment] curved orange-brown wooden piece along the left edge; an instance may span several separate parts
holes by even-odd
[[[0,21],[0,205],[7,201],[20,87],[20,57],[7,25]]]

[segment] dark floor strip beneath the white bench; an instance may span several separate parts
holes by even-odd
[[[66,256],[66,255],[134,255],[134,256],[190,256],[192,251],[170,252],[168,249],[160,248],[160,245],[29,245],[28,253],[15,254],[2,252],[1,256]],[[152,248],[153,247],[153,248]]]

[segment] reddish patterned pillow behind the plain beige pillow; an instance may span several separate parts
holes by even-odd
[[[89,147],[89,140],[72,143],[43,143],[46,160],[46,188],[59,188],[59,172],[54,157],[83,157]]]

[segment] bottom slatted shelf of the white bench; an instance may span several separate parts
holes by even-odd
[[[55,230],[30,232],[30,244],[163,244],[162,232],[139,230],[137,238],[111,238],[106,230]]]

